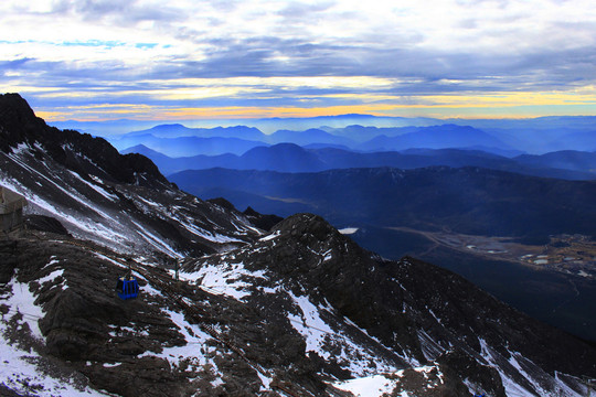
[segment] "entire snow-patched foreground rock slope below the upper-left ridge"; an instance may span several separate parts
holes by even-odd
[[[134,301],[113,290],[127,257],[56,235],[0,242],[7,390],[582,396],[577,375],[593,373],[589,346],[430,265],[380,261],[312,215],[290,217],[253,245],[188,260],[178,283],[137,257]],[[417,288],[421,272],[435,298]],[[451,305],[460,305],[457,315]],[[544,346],[551,351],[534,351]]]

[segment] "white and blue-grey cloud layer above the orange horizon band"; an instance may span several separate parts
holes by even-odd
[[[44,98],[142,100],[139,82],[151,100],[172,87],[164,98],[300,100],[596,84],[586,0],[4,0],[0,25],[0,82]]]

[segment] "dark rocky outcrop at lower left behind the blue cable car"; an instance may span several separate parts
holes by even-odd
[[[0,311],[14,323],[4,329],[0,322],[0,333],[11,332],[13,343],[42,355],[42,364],[58,358],[63,371],[84,375],[88,386],[123,396],[248,396],[263,388],[255,369],[262,367],[269,382],[295,383],[316,395],[324,389],[301,354],[302,339],[279,319],[264,323],[255,308],[175,285],[163,270],[148,268],[151,279],[136,273],[140,296],[123,301],[114,286],[126,271],[125,258],[99,247],[57,235],[25,238],[0,242]],[[31,300],[24,318],[23,308],[11,305],[23,290]],[[181,309],[172,291],[194,311]]]

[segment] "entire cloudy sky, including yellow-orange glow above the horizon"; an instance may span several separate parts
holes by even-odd
[[[49,120],[596,115],[594,0],[3,0]]]

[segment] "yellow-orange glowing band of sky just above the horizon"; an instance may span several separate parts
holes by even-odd
[[[309,118],[365,114],[386,117],[432,118],[533,118],[541,116],[596,115],[594,87],[566,93],[488,93],[473,95],[419,95],[403,104],[398,96],[374,103],[315,107],[172,107],[143,104],[95,104],[65,108],[40,109],[38,115],[49,121],[108,121],[119,118],[139,121],[217,120],[258,118]],[[349,97],[349,96],[347,96]],[[358,98],[358,95],[355,96]],[[320,100],[331,99],[321,96]]]

